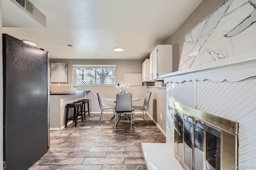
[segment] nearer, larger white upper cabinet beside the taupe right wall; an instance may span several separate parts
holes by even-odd
[[[149,58],[150,81],[164,80],[159,76],[172,72],[172,45],[157,45]]]

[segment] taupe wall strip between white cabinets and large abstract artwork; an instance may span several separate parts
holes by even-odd
[[[164,44],[172,44],[172,71],[178,70],[185,34],[226,0],[203,0]]]

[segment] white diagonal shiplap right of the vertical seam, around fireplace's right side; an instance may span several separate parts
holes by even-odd
[[[256,145],[252,144],[256,143],[256,78],[213,84],[211,80],[198,82],[198,109],[238,121],[239,165],[255,164]]]

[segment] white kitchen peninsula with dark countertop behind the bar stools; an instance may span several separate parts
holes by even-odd
[[[90,91],[50,92],[50,131],[60,131],[65,127],[66,104],[86,99]],[[68,115],[71,117],[73,110]],[[68,125],[72,121],[68,121]]]

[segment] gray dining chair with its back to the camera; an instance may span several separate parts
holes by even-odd
[[[131,93],[117,93],[116,94],[116,109],[115,109],[115,130],[118,122],[123,114],[130,113],[130,123],[132,130],[132,94]],[[116,114],[121,114],[116,122]]]

